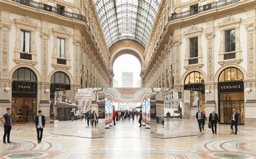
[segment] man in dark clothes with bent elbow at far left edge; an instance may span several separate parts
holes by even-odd
[[[4,118],[4,121],[3,121]],[[7,135],[7,143],[11,143],[10,141],[10,133],[11,133],[11,109],[10,107],[6,108],[6,113],[0,117],[0,120],[2,121],[4,125],[4,137],[3,137],[3,143],[5,142],[6,135]]]

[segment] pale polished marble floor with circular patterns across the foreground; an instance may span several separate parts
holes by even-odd
[[[169,133],[175,138],[150,138],[150,129],[139,128],[138,121],[117,121],[106,129],[105,138],[87,139],[53,134],[46,125],[42,143],[37,143],[34,125],[14,125],[11,144],[0,139],[1,158],[256,158],[256,127],[239,126],[231,134],[229,125],[218,125],[218,134],[205,127],[200,133],[196,120],[170,119]],[[175,124],[176,123],[176,124]],[[177,125],[177,129],[175,128]],[[178,137],[184,132],[196,135]],[[85,127],[86,128],[86,127]],[[87,127],[89,128],[89,127]],[[186,133],[185,133],[186,134]],[[3,135],[3,127],[0,128]]]

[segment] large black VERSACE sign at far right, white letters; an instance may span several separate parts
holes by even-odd
[[[244,92],[244,82],[243,81],[219,82],[218,92],[219,93]]]

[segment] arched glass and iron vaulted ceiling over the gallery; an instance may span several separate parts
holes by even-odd
[[[161,0],[93,0],[107,46],[123,39],[145,48]]]

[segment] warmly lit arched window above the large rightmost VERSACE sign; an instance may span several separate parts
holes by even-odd
[[[240,81],[243,79],[244,75],[242,75],[242,72],[235,67],[226,68],[220,73],[219,76],[219,82]]]

